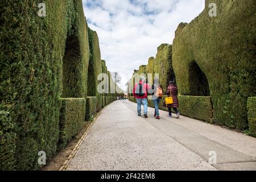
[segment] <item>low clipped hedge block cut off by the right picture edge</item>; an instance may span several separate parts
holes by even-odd
[[[256,137],[256,97],[247,100],[249,134]]]

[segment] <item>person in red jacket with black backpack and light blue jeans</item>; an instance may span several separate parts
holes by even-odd
[[[144,117],[147,117],[147,90],[151,89],[146,82],[145,77],[140,77],[139,82],[133,88],[133,96],[137,101],[138,116],[141,116],[141,105],[143,105]]]

